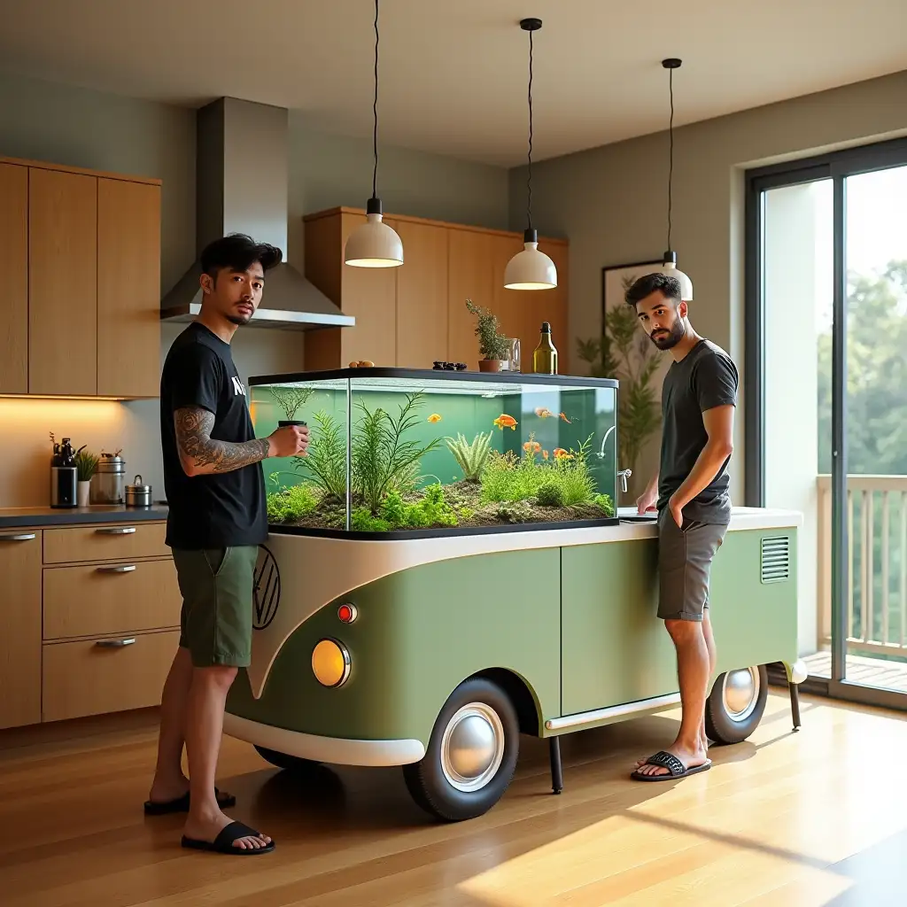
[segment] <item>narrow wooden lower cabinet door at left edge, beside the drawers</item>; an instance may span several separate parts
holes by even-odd
[[[0,728],[41,720],[41,532],[0,530]]]

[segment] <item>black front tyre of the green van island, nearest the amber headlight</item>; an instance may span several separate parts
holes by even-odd
[[[462,709],[473,704],[478,708],[473,708],[471,715],[461,713]],[[460,717],[457,717],[458,713],[461,713]],[[497,717],[499,725],[496,725],[492,715]],[[463,727],[463,717],[470,717],[471,721],[473,717],[478,717],[478,722],[472,722],[473,727],[480,728],[483,734],[490,733],[492,742],[489,746],[494,756],[486,766],[486,771],[492,772],[493,766],[497,765],[487,777],[473,775],[472,783],[468,780],[459,782],[463,786],[479,785],[472,790],[463,790],[454,785],[448,774],[453,770],[453,763],[450,757],[443,756],[443,751],[452,753],[445,749],[448,726],[453,723],[453,727]],[[463,730],[463,733],[466,731]],[[510,697],[492,681],[473,678],[464,680],[453,690],[434,721],[432,736],[422,761],[403,766],[403,775],[409,793],[426,813],[445,822],[462,822],[487,813],[501,799],[511,783],[519,753],[520,723]]]

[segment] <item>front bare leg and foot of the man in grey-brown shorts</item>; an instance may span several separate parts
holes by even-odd
[[[707,759],[702,746],[702,721],[706,708],[709,655],[702,623],[697,620],[666,620],[665,627],[678,653],[680,683],[680,730],[668,746],[687,768],[701,766]],[[640,766],[640,775],[668,775],[662,766]]]

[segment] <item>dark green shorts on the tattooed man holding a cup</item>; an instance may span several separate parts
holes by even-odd
[[[180,646],[196,668],[248,668],[258,547],[173,549],[182,593]]]

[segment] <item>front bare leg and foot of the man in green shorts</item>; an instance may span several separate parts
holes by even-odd
[[[184,833],[199,841],[212,842],[233,820],[220,811],[214,795],[224,706],[236,668],[195,668],[186,711],[186,752],[189,756],[190,810]],[[234,847],[263,847],[267,834],[239,838]]]

